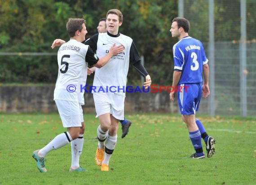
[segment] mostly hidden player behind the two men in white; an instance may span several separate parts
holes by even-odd
[[[101,18],[100,19],[99,24],[97,26],[97,31],[98,31],[98,33],[106,33],[107,32],[106,18]],[[88,69],[87,74],[91,75],[93,72],[95,72],[95,67],[92,67],[92,68]],[[121,138],[124,138],[128,134],[129,128],[130,128],[132,122],[131,122],[131,120],[126,119],[125,117],[124,117],[124,120],[119,120],[119,122],[122,125],[122,136],[121,136]]]

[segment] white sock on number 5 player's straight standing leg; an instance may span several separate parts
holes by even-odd
[[[84,137],[83,134],[79,134],[79,137],[73,141],[71,141],[71,154],[72,154],[72,161],[71,161],[71,167],[77,168],[79,167],[79,158],[82,154],[84,145]]]

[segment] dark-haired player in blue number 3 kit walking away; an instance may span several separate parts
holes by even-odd
[[[208,86],[209,66],[203,44],[188,35],[189,29],[190,23],[187,19],[177,17],[172,20],[170,32],[172,37],[179,41],[173,46],[172,87],[175,87],[177,92],[170,93],[170,99],[174,101],[174,95],[177,93],[181,118],[187,125],[189,137],[195,150],[190,158],[203,159],[205,156],[201,137],[206,143],[207,157],[212,157],[215,152],[215,139],[207,135],[203,124],[195,118],[202,92],[203,97],[208,97],[210,94]]]

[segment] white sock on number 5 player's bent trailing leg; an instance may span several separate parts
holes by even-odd
[[[58,148],[61,148],[62,146],[65,146],[69,143],[69,140],[72,141],[72,137],[70,136],[70,134],[68,132],[64,132],[61,133],[59,135],[57,135],[56,137],[54,137],[54,139],[52,141],[50,141],[46,146],[44,146],[44,148],[40,149],[38,154],[40,154],[40,156],[45,157],[46,154],[48,154],[50,151],[57,150]]]

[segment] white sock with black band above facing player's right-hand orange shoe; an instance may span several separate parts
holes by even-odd
[[[104,159],[102,161],[102,164],[108,165],[110,157],[115,149],[116,142],[117,142],[117,135],[107,137]]]

